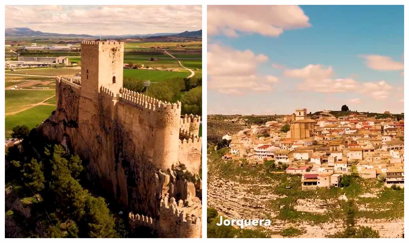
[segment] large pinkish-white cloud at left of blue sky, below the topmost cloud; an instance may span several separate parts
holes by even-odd
[[[252,91],[272,90],[275,76],[257,74],[257,66],[267,56],[250,50],[239,51],[218,44],[209,44],[207,51],[207,87],[222,94],[240,95]]]

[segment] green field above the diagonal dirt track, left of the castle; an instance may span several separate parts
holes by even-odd
[[[21,106],[33,105],[55,95],[55,90],[4,90],[5,112],[22,109]]]

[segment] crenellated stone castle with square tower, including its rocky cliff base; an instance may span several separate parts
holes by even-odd
[[[56,111],[39,129],[89,161],[90,179],[129,208],[131,226],[200,237],[201,181],[173,171],[199,173],[200,117],[125,89],[123,63],[124,42],[83,41],[81,78],[56,78]]]

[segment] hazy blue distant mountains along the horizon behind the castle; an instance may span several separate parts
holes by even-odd
[[[65,38],[95,38],[99,35],[84,35],[84,34],[60,34],[48,33],[42,31],[34,31],[30,28],[6,28],[5,36],[7,37],[65,37]],[[202,37],[202,30],[184,31],[182,33],[154,33],[154,34],[129,34],[129,35],[101,35],[103,38],[134,38],[134,37],[149,37],[149,36],[177,36],[177,37]]]

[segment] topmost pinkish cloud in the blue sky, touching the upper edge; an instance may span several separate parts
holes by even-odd
[[[208,5],[207,33],[236,37],[236,31],[279,36],[285,29],[310,27],[309,18],[295,5]]]

